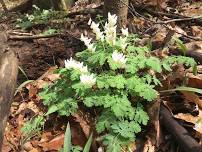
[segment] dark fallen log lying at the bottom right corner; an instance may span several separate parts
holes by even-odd
[[[202,152],[202,147],[192,138],[172,116],[169,110],[161,105],[160,120],[162,125],[176,139],[184,152]]]

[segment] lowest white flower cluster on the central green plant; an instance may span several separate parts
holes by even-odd
[[[93,74],[91,74],[91,75],[82,74],[80,76],[80,81],[84,85],[93,86],[96,83],[96,78],[94,77]]]

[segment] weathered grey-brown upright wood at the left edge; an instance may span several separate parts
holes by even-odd
[[[0,33],[0,151],[7,117],[15,91],[18,60],[14,52],[7,51],[5,33]]]

